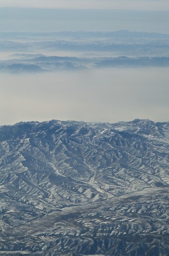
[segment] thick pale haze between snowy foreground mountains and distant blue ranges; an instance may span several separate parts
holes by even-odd
[[[168,68],[0,77],[1,125],[19,121],[168,121]]]

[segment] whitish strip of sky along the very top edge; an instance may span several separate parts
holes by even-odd
[[[168,0],[0,0],[1,7],[169,10]]]

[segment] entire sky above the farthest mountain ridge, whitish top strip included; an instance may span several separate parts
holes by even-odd
[[[169,0],[0,0],[0,31],[169,33]]]

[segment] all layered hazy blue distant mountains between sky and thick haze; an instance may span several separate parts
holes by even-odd
[[[131,31],[0,32],[0,72],[168,67],[169,35]],[[71,53],[71,54],[70,54]]]

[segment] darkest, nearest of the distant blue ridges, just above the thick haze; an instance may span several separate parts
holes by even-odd
[[[19,56],[19,55],[17,55]],[[20,55],[22,56],[22,55]],[[47,72],[58,70],[81,70],[117,67],[169,67],[169,57],[60,57],[23,55],[19,59],[0,61],[0,71],[10,73]]]

